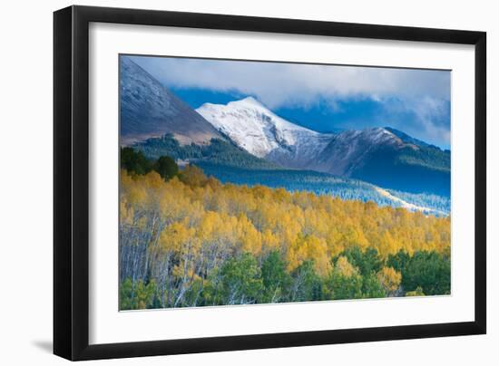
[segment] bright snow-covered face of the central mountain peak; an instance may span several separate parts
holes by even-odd
[[[288,168],[306,167],[334,136],[284,120],[252,97],[196,111],[240,148]]]

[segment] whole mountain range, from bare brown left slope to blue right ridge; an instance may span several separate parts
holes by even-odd
[[[301,169],[383,188],[450,195],[450,151],[391,128],[320,133],[249,97],[196,111],[122,57],[122,145],[244,169]]]

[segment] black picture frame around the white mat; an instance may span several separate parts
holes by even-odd
[[[90,345],[88,56],[91,22],[475,45],[475,321]],[[76,361],[484,334],[485,96],[484,32],[87,6],[70,6],[54,12],[54,354]]]

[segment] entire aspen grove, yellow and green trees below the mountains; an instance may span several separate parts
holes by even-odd
[[[450,294],[450,216],[142,163],[122,164],[121,310]]]

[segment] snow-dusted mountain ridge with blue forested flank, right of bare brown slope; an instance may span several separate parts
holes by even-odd
[[[321,133],[284,120],[252,97],[225,105],[205,103],[196,111],[241,149],[287,169],[316,170],[413,193],[450,194],[450,152],[400,130]]]

